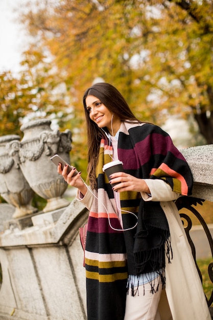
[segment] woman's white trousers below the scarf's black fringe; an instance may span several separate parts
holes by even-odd
[[[162,285],[159,285],[156,293],[152,294],[150,289],[150,284],[147,283],[139,286],[139,291],[134,296],[131,295],[131,292],[127,294],[124,320],[160,320],[158,303],[162,292]]]

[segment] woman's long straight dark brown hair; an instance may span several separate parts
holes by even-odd
[[[121,121],[140,121],[135,118],[126,100],[113,85],[106,82],[100,82],[92,85],[86,90],[83,96],[83,104],[87,126],[87,180],[92,189],[97,189],[96,166],[99,158],[100,142],[104,136],[104,132],[89,118],[89,112],[86,109],[85,101],[87,96],[97,97],[107,109],[118,116]]]

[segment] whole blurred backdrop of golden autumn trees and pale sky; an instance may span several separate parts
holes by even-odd
[[[85,178],[82,96],[106,81],[179,149],[213,142],[211,1],[0,0],[0,9],[0,135],[22,136],[38,118],[70,129]]]

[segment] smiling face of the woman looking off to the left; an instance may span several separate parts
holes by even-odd
[[[86,97],[86,109],[89,112],[89,118],[98,125],[99,128],[107,127],[111,135],[115,135],[121,126],[121,120],[94,96]],[[113,131],[113,132],[112,132]]]

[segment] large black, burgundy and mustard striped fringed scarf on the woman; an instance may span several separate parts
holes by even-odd
[[[122,123],[118,156],[124,171],[138,178],[163,179],[182,195],[192,191],[192,174],[170,136],[151,124]],[[115,214],[111,185],[102,171],[112,161],[112,147],[101,140],[85,250],[88,320],[122,320],[128,273],[157,271],[165,283],[165,255],[171,259],[170,232],[159,202],[144,201],[138,192],[121,192],[124,230]],[[127,213],[132,212],[136,218]]]

